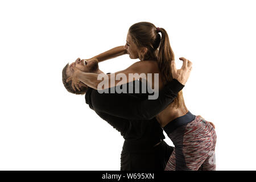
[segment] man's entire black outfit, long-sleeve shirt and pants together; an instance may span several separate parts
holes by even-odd
[[[139,93],[135,93],[135,84],[138,82]],[[163,170],[173,151],[173,147],[164,141],[160,142],[165,137],[154,116],[174,100],[183,85],[173,80],[160,91],[157,100],[147,100],[148,92],[141,92],[142,84],[138,80],[126,84],[127,91],[133,86],[134,93],[110,93],[110,88],[109,93],[100,94],[88,88],[85,94],[90,109],[96,111],[125,139],[121,170]]]

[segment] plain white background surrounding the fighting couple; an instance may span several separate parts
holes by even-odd
[[[147,21],[193,62],[185,103],[216,125],[217,170],[255,170],[255,17],[254,1],[1,1],[0,169],[119,170],[123,138],[65,90],[61,71]]]

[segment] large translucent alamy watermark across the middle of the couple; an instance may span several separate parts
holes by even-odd
[[[110,76],[110,79],[109,79]],[[138,80],[141,78],[142,84],[141,93],[149,93],[148,100],[155,100],[159,96],[159,74],[154,73],[154,89],[152,88],[152,73],[129,73],[128,78],[124,73],[115,73],[105,75],[101,73],[98,75],[97,80],[102,80],[97,87],[98,93],[127,93],[127,84],[129,82],[128,93],[139,93],[140,92],[140,84],[139,82],[133,83],[134,80]],[[118,82],[119,81],[119,82]],[[147,84],[146,84],[147,82]],[[117,86],[115,86],[117,85]],[[118,86],[118,85],[122,85]],[[134,85],[134,87],[133,87]],[[134,92],[135,90],[135,92]],[[153,94],[152,94],[153,93]]]

